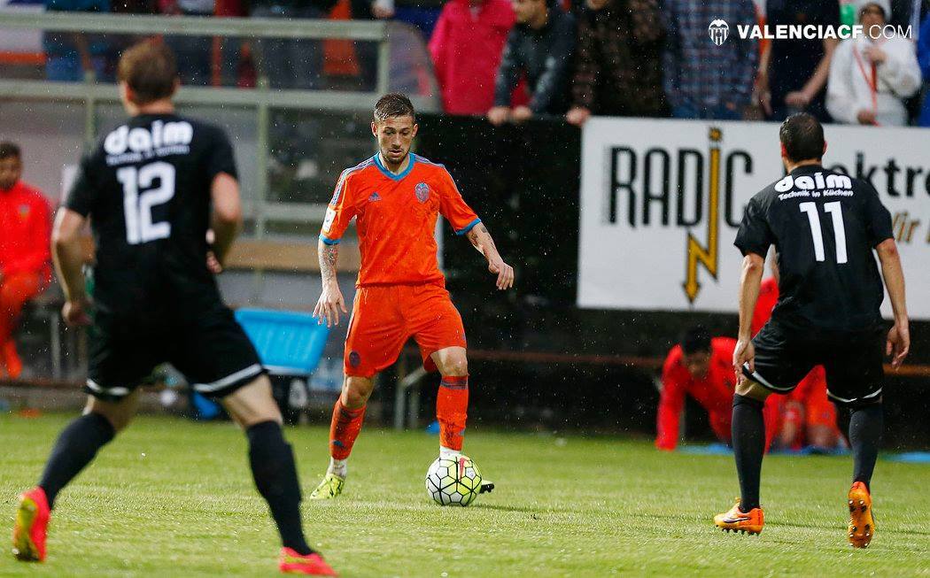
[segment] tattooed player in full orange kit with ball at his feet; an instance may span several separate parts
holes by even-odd
[[[456,234],[465,235],[485,256],[498,289],[513,286],[513,268],[500,257],[445,166],[410,152],[417,129],[410,99],[397,93],[381,97],[371,123],[379,152],[342,171],[326,210],[318,243],[323,294],[313,311],[320,322],[338,323],[339,311],[348,312],[336,262],[339,240],[352,218],[362,266],[345,343],[346,379],[333,409],[332,459],[311,499],[342,492],[375,374],[397,360],[411,336],[419,344],[423,365],[442,374],[436,398],[440,455],[454,457],[461,451],[468,410],[465,330],[436,261],[436,218],[445,217]]]

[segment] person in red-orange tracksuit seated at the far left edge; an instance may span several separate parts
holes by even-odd
[[[20,311],[51,280],[51,209],[21,176],[20,147],[0,142],[0,361],[13,379],[22,373],[13,340]]]

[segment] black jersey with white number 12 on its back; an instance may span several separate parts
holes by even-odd
[[[236,177],[223,131],[175,114],[135,116],[85,156],[65,206],[90,217],[100,310],[157,315],[219,298],[206,230],[220,173]]]

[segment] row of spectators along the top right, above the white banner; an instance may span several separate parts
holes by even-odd
[[[539,114],[574,125],[592,114],[780,121],[802,111],[823,122],[930,125],[930,2],[844,7],[841,18],[838,0],[767,0],[764,10],[752,0],[512,0],[510,10],[503,0],[451,0],[430,48],[445,112],[494,125]],[[713,20],[729,23],[720,45]],[[756,22],[860,23],[866,33],[842,42],[736,33]],[[911,35],[887,38],[885,24],[910,25]]]

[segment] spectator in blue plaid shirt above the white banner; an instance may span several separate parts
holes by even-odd
[[[752,0],[666,0],[665,93],[675,118],[739,120],[751,103],[759,64],[755,40],[740,39],[737,24],[755,23]],[[717,46],[708,24],[724,20]]]

